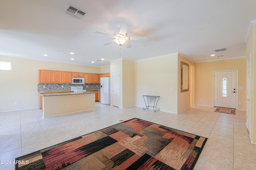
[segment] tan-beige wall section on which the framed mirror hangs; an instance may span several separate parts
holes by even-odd
[[[189,90],[187,92],[181,92],[181,61],[184,63],[189,64],[189,74],[190,73],[190,66],[195,66],[195,63],[186,59],[182,55],[178,54],[178,113],[188,109],[190,107],[190,91],[194,90],[191,89],[189,84]],[[190,75],[189,75],[190,77]]]

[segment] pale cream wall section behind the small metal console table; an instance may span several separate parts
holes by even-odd
[[[159,109],[178,113],[177,63],[178,53],[134,62],[134,105],[145,107],[143,95],[160,96]]]

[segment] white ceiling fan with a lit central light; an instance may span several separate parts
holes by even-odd
[[[112,41],[109,41],[103,45],[109,45],[111,43],[117,43],[118,45],[124,45],[126,46],[127,48],[131,48],[132,45],[130,45],[130,43],[128,43],[129,40],[137,40],[137,41],[145,41],[147,40],[148,38],[147,37],[134,37],[134,36],[130,36],[128,37],[127,36],[127,31],[129,29],[129,25],[127,25],[126,23],[123,23],[122,25],[118,25],[119,27],[119,31],[115,31],[114,32],[114,35],[110,35],[110,34],[106,34],[106,33],[101,33],[101,32],[98,32],[98,31],[93,31],[94,33],[98,33],[98,34],[103,34],[103,35],[108,35],[110,37],[113,37],[115,38],[114,40]]]

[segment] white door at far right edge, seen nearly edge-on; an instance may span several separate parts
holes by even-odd
[[[247,108],[246,108],[246,127],[250,133],[250,115],[251,115],[251,54],[249,58],[247,58],[247,77],[246,77],[246,91],[247,91]]]

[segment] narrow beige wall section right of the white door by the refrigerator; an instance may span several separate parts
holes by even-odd
[[[134,62],[122,60],[123,108],[134,106]]]

